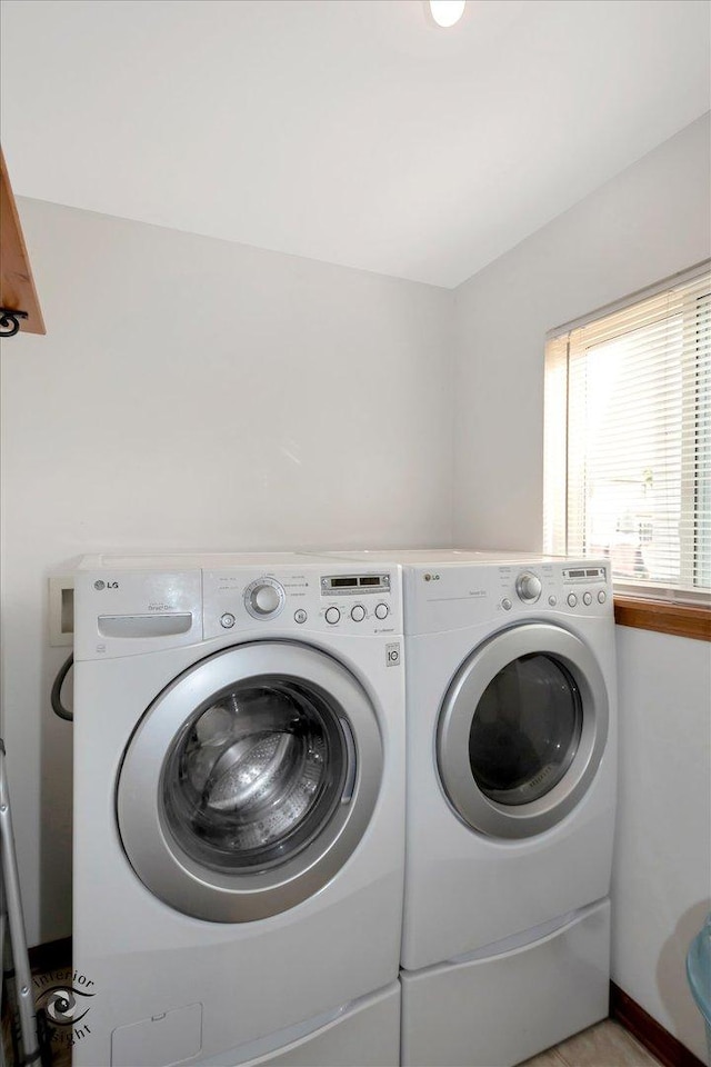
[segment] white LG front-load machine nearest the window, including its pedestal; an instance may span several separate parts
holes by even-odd
[[[510,1067],[608,1014],[609,561],[352,558],[404,570],[402,1063]]]

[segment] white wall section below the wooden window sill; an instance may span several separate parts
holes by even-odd
[[[703,1058],[684,960],[711,904],[711,654],[618,626],[613,977]]]

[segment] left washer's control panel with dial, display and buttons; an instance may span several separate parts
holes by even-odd
[[[351,568],[353,565],[349,564]],[[323,572],[323,562],[254,574],[203,571],[204,637],[264,629],[401,634],[400,570]]]

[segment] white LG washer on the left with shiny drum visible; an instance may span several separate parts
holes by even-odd
[[[398,1063],[401,634],[395,565],[82,560],[74,1067]]]

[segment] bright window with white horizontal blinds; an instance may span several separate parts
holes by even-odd
[[[605,556],[615,589],[711,591],[711,271],[552,331],[545,550]]]

